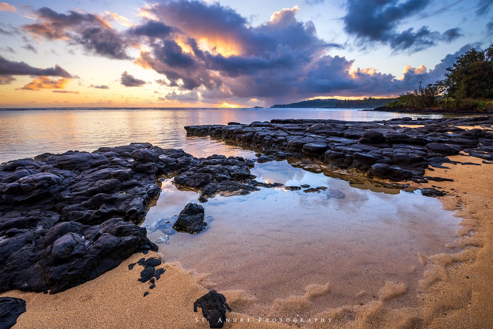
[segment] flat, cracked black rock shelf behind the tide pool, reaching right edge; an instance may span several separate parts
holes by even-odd
[[[186,126],[189,135],[208,135],[262,147],[258,161],[314,158],[370,177],[424,183],[428,167],[449,162],[460,151],[493,160],[493,115],[468,118],[393,118],[371,122],[274,119],[228,125]],[[458,126],[484,125],[486,129]],[[411,127],[408,127],[411,126]],[[417,127],[413,127],[417,126]]]

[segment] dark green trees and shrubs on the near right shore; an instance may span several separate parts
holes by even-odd
[[[387,108],[493,111],[493,43],[457,56],[446,71],[444,79],[400,95]]]

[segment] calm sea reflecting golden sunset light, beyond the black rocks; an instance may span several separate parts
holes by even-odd
[[[0,162],[44,152],[94,151],[101,146],[149,142],[195,156],[253,154],[209,138],[187,137],[187,125],[251,123],[285,118],[372,121],[399,116],[441,117],[355,109],[30,109],[0,110]]]

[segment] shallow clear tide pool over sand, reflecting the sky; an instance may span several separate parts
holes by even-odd
[[[418,253],[449,253],[444,246],[455,239],[458,219],[453,212],[419,193],[355,188],[285,160],[256,163],[252,173],[259,182],[328,189],[261,188],[246,196],[216,196],[202,204],[206,217],[213,219],[205,231],[172,230],[169,244],[158,244],[165,261],[210,273],[214,289],[243,289],[254,296],[256,305],[241,312],[260,312],[277,298],[303,295],[307,286],[327,283],[331,292],[302,311],[305,316],[317,308],[377,299],[386,281],[408,284],[412,293],[398,299],[400,305],[412,306],[423,274]],[[196,192],[177,190],[172,179],[163,182],[162,190],[144,225],[197,203]],[[162,235],[158,230],[148,237],[156,242]]]

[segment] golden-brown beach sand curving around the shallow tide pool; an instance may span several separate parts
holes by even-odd
[[[481,163],[480,159],[470,156],[458,155],[450,159]],[[452,252],[416,256],[415,260],[424,269],[413,292],[417,306],[402,307],[398,299],[410,287],[388,280],[377,292],[376,300],[320,310],[310,323],[305,319],[304,326],[493,328],[493,165],[446,166],[450,169],[434,168],[427,174],[452,178],[454,182],[430,182],[419,187],[434,185],[449,192],[439,200],[444,209],[456,210],[455,216],[463,219],[456,233],[457,239],[447,245]],[[133,255],[101,277],[55,295],[2,293],[26,300],[27,312],[19,317],[14,328],[209,328],[207,323],[201,323],[200,313],[193,313],[193,302],[207,292],[204,287],[211,285],[208,276],[187,272],[176,264],[161,265],[166,267],[165,274],[156,281],[156,288],[143,297],[148,284],[137,281],[141,267],[128,270],[128,264],[141,256]],[[272,316],[278,317],[280,310],[295,317],[296,312],[311,308],[320,296],[337,298],[337,295],[332,296],[333,291],[330,284],[311,285],[304,294],[275,301],[271,308],[265,309],[269,313],[261,314],[263,320],[260,323],[258,317],[250,316],[250,323],[228,323],[224,328],[272,326]],[[247,309],[254,303],[251,297],[238,290],[221,293],[234,310]],[[248,318],[235,312],[227,316],[231,320],[243,318],[246,321]],[[264,322],[267,316],[271,317],[269,323]],[[198,323],[195,323],[196,317]],[[315,323],[315,318],[323,318],[324,322]],[[301,324],[299,319],[298,324]]]

